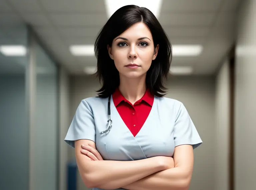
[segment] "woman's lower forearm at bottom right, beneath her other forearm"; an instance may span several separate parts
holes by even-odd
[[[191,175],[177,167],[159,171],[129,185],[123,186],[129,190],[187,190]]]

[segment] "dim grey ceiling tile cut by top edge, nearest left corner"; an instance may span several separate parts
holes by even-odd
[[[35,0],[8,0],[20,12],[42,12],[38,1]]]

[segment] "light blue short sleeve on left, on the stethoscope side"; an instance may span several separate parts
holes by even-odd
[[[75,148],[75,140],[88,139],[95,142],[95,123],[91,107],[82,100],[65,137],[65,142]]]

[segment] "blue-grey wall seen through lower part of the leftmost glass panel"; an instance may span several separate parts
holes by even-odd
[[[0,189],[28,189],[25,76],[0,75]]]

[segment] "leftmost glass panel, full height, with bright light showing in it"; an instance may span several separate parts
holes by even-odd
[[[0,22],[0,189],[28,189],[27,41],[25,25]]]

